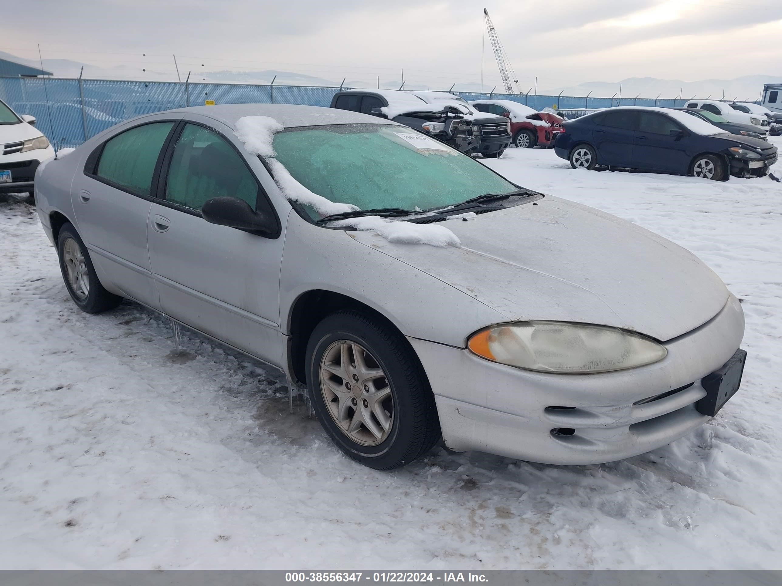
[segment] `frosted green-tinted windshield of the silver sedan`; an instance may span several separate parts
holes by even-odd
[[[274,151],[304,187],[361,209],[427,210],[517,189],[472,157],[403,126],[288,128],[274,135]]]

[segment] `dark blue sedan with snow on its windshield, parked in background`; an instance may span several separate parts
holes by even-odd
[[[704,120],[667,108],[624,106],[570,120],[554,152],[574,169],[635,169],[705,179],[762,177],[777,147],[727,134]]]

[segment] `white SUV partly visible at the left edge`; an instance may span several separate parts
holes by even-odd
[[[0,193],[33,193],[35,170],[54,156],[34,124],[33,116],[19,116],[0,100]]]

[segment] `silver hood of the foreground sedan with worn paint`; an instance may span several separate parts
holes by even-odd
[[[710,320],[729,295],[684,248],[551,196],[439,225],[457,235],[461,248],[392,244],[369,231],[351,235],[508,321],[600,323],[667,341]]]

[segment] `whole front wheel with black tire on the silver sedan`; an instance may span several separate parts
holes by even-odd
[[[434,395],[418,356],[376,318],[356,310],[325,317],[310,336],[306,360],[315,415],[349,458],[393,470],[439,441]]]

